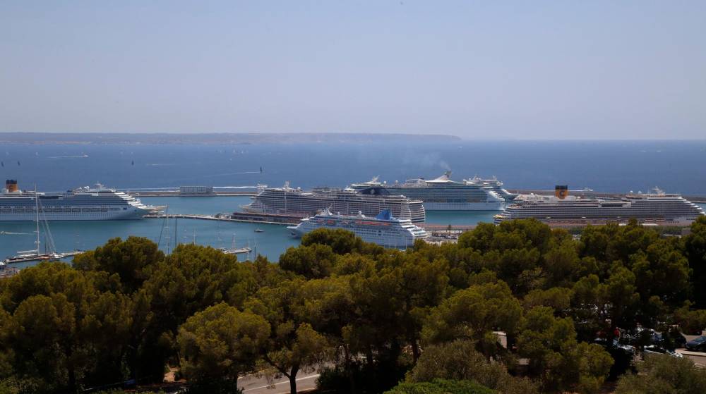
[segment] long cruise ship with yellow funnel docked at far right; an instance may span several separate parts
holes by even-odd
[[[628,194],[616,198],[577,197],[568,195],[566,185],[556,186],[553,196],[527,195],[515,199],[495,223],[520,218],[536,218],[556,227],[580,227],[608,222],[640,223],[657,226],[688,226],[704,210],[681,195],[666,194],[655,188],[651,194]]]

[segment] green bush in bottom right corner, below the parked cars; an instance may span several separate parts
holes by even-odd
[[[638,369],[620,378],[616,394],[706,393],[706,370],[688,358],[648,357]]]

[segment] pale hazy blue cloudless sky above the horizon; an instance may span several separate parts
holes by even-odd
[[[0,132],[706,137],[706,1],[0,0]]]

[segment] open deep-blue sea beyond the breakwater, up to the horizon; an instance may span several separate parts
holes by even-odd
[[[28,145],[0,147],[0,178],[20,186],[67,190],[179,185],[343,186],[381,176],[388,182],[497,176],[508,188],[556,184],[605,192],[706,195],[706,140],[641,142],[475,142],[453,144]],[[263,167],[264,172],[260,173]]]

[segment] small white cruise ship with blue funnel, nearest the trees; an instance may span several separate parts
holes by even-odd
[[[365,242],[373,242],[387,247],[409,247],[416,240],[427,237],[426,230],[409,219],[397,219],[389,209],[380,212],[376,217],[369,218],[363,214],[341,215],[331,214],[324,209],[321,214],[301,220],[297,226],[287,227],[292,233],[301,237],[317,228],[342,228],[349,230]]]

